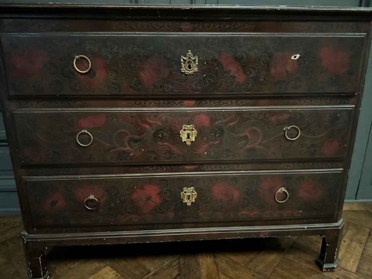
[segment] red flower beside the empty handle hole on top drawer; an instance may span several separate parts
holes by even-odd
[[[298,60],[292,59],[293,52],[277,52],[271,58],[270,74],[278,80],[286,78],[287,73],[294,74],[299,69]]]

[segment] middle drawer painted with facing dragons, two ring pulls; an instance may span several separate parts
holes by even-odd
[[[25,165],[182,164],[343,158],[353,109],[17,109],[13,117]],[[190,145],[180,137],[184,125],[193,125],[197,132]],[[81,146],[77,137],[82,145],[92,144]]]

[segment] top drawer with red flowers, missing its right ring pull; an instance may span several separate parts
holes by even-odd
[[[352,93],[364,44],[365,34],[1,35],[10,96]],[[189,50],[198,58],[192,74],[181,67]],[[90,60],[87,73],[74,68],[78,55]],[[85,71],[88,61],[76,67]]]

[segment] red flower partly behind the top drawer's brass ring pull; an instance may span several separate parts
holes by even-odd
[[[105,61],[100,58],[94,58],[92,61],[92,68],[87,73],[79,73],[75,71],[75,74],[80,78],[84,86],[89,88],[95,88],[107,77],[107,72],[103,68]],[[79,59],[76,61],[76,67],[80,71],[85,71],[89,67],[89,63],[86,59]]]

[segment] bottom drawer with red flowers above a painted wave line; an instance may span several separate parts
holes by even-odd
[[[23,180],[35,226],[198,222],[200,227],[211,221],[332,217],[341,173],[226,171]]]

